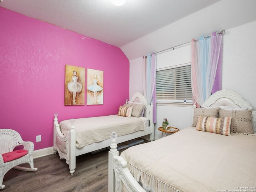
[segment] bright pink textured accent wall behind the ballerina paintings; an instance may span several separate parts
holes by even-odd
[[[129,98],[120,48],[2,7],[0,18],[0,128],[18,131],[34,150],[53,146],[55,112],[59,122],[117,114]],[[103,105],[87,106],[85,96],[85,105],[64,106],[66,64],[104,71]]]

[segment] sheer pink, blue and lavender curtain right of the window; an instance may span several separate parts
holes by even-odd
[[[192,39],[192,92],[194,102],[200,106],[212,94],[221,52],[222,34],[219,32],[200,36],[198,41]]]

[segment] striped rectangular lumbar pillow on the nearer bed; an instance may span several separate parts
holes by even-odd
[[[196,130],[231,136],[231,120],[232,117],[218,118],[199,116]]]

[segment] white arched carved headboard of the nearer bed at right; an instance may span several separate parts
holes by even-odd
[[[204,102],[202,107],[247,108],[248,110],[252,110],[252,106],[240,95],[226,89],[212,94],[208,100]],[[252,126],[254,133],[256,133],[256,111],[252,111]]]

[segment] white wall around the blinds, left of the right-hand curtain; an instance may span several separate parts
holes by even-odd
[[[161,52],[156,56],[156,69],[168,68],[191,62],[191,45],[176,47],[174,50]],[[143,58],[130,61],[130,98],[135,92],[143,93],[142,65]],[[167,118],[171,126],[182,129],[191,125],[192,104],[157,104],[156,106],[155,139],[162,137],[158,127],[162,126],[163,118]]]

